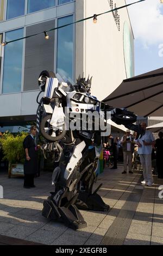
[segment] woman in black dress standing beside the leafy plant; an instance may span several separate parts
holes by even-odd
[[[24,163],[24,188],[35,187],[34,176],[37,173],[37,145],[36,145],[36,126],[30,127],[30,135],[23,141],[23,148],[26,153]]]

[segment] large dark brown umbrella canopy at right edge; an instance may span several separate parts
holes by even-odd
[[[104,102],[142,117],[162,117],[163,68],[123,80]]]

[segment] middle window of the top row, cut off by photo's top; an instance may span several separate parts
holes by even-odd
[[[55,6],[55,0],[28,0],[27,13],[34,13]]]

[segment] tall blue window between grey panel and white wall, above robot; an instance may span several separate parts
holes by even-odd
[[[58,26],[73,22],[73,15],[58,19]],[[73,80],[73,25],[58,29],[57,72],[62,78]],[[66,80],[65,80],[66,81]]]

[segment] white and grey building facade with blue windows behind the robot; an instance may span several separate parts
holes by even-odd
[[[11,41],[103,13],[125,0],[0,0],[0,42]],[[0,126],[36,116],[42,70],[73,82],[93,76],[92,95],[103,100],[134,76],[134,36],[127,8],[12,42],[0,48]]]

